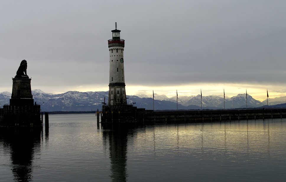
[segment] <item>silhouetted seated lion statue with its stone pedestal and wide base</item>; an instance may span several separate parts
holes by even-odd
[[[4,105],[4,117],[0,126],[43,127],[40,105],[35,103],[31,92],[31,79],[27,75],[27,61],[23,60],[13,80],[10,105]]]

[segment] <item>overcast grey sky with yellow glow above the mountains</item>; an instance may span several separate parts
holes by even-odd
[[[127,95],[286,96],[286,1],[0,0],[0,92],[27,60],[31,88],[108,91],[111,30]]]

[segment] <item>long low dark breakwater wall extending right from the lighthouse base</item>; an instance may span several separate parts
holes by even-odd
[[[286,109],[260,110],[202,110],[166,111],[146,110],[138,113],[138,122],[203,122],[215,120],[250,120],[266,118],[286,118]]]

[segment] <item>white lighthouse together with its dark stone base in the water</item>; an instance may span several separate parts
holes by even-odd
[[[101,123],[137,122],[139,112],[144,108],[137,108],[127,104],[124,77],[124,40],[120,39],[121,30],[111,30],[112,39],[108,40],[109,49],[109,92],[108,105],[102,102]],[[105,101],[105,100],[104,100]]]

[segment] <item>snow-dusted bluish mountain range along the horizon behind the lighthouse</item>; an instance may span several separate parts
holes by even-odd
[[[45,93],[42,90],[32,90],[32,95],[38,104],[41,105],[42,111],[91,111],[101,110],[104,97],[105,102],[108,102],[108,91],[99,92],[78,92],[69,91],[62,94]],[[127,95],[128,104],[134,104],[138,108],[146,108],[153,110],[153,98],[147,95]],[[11,93],[0,93],[0,104],[9,104]],[[268,105],[277,105],[286,103],[285,97],[276,97],[268,99]],[[260,102],[247,94],[247,107],[262,107],[267,104],[267,101]],[[245,108],[246,94],[238,94],[233,97],[224,98],[217,95],[202,96],[203,109],[231,109]],[[154,109],[155,110],[176,110],[177,98],[167,97],[166,95],[154,94]],[[196,96],[179,96],[178,110],[201,109],[201,95]]]

